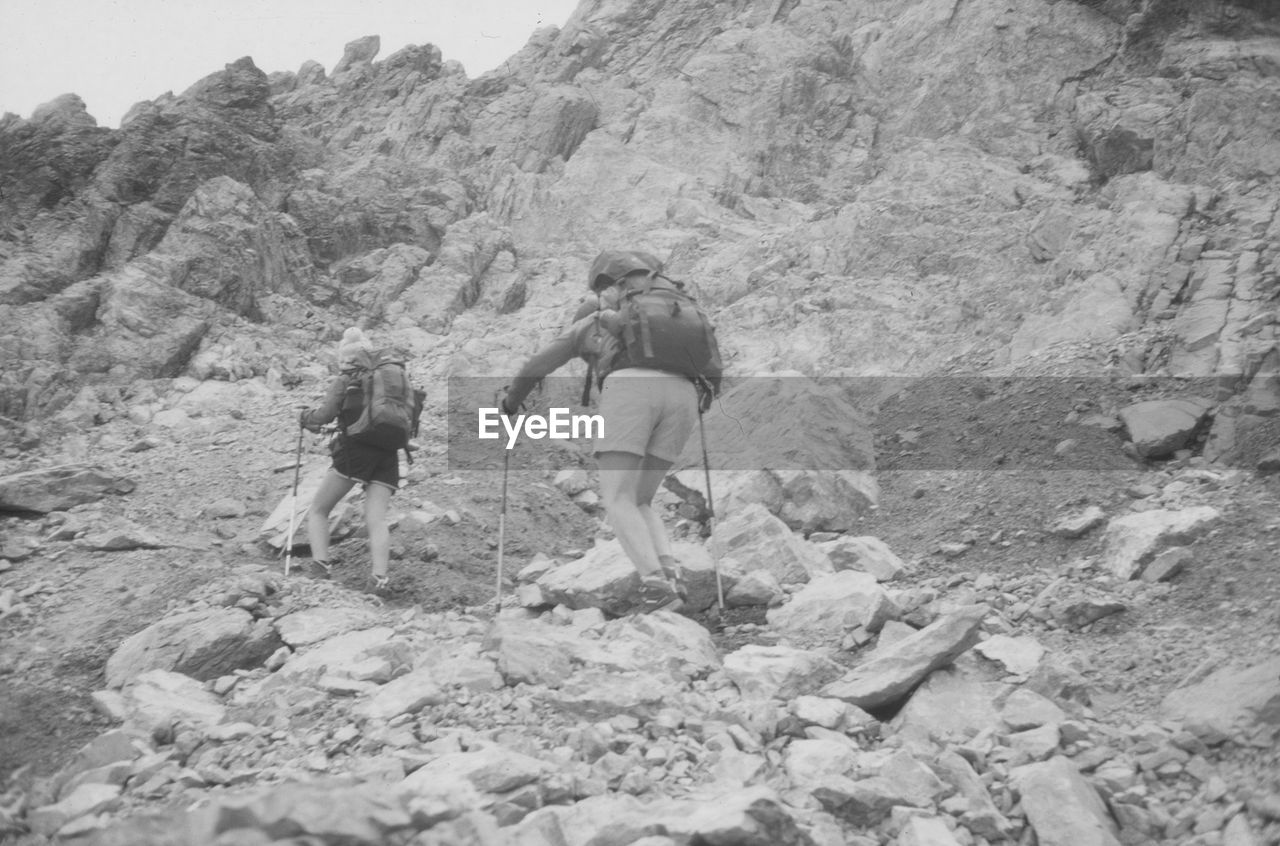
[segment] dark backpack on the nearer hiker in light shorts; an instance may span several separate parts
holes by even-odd
[[[622,349],[611,370],[653,367],[718,385],[723,370],[716,328],[684,283],[657,274],[632,283],[618,306]]]

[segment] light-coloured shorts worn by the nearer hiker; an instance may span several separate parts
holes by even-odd
[[[646,367],[611,372],[600,390],[604,436],[595,454],[626,452],[675,462],[698,425],[698,390],[686,376]]]

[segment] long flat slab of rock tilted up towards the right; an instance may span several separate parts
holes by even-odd
[[[986,605],[965,605],[900,640],[822,689],[868,710],[891,705],[906,696],[931,672],[950,664],[978,640],[987,616]]]

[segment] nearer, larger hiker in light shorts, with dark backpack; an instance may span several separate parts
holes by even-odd
[[[710,321],[662,270],[648,252],[602,252],[588,271],[594,307],[584,303],[573,324],[525,363],[502,401],[503,413],[515,415],[541,378],[575,357],[588,362],[604,419],[594,444],[600,499],[640,576],[641,611],[684,598],[671,539],[652,503],[698,415],[719,393],[722,375]]]

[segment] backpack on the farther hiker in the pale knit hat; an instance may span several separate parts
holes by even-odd
[[[358,397],[356,395],[358,394]],[[364,353],[347,385],[344,407],[360,404],[360,416],[347,424],[348,438],[380,449],[403,449],[417,434],[426,392],[415,389],[404,371],[404,356],[394,349]]]

